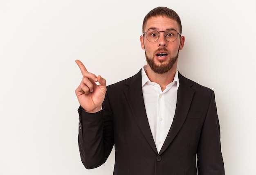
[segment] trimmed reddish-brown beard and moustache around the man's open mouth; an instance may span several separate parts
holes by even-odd
[[[166,50],[166,49],[160,49],[160,50]],[[159,51],[159,50],[157,50]],[[155,51],[155,53],[157,52]],[[167,50],[166,50],[167,51]],[[168,51],[167,51],[168,52]],[[148,65],[150,66],[150,68],[157,74],[163,74],[165,72],[168,72],[169,70],[171,70],[171,68],[173,67],[174,63],[177,61],[178,56],[179,56],[179,52],[177,53],[176,56],[171,57],[171,54],[168,52],[168,57],[169,57],[169,62],[162,64],[162,61],[160,61],[160,64],[157,65],[154,61],[153,57],[148,57],[148,55],[146,54],[146,50],[145,50],[145,55],[146,55],[146,61],[148,63]],[[155,54],[154,54],[155,55]]]

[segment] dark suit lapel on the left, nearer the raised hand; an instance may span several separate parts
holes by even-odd
[[[148,118],[143,100],[141,88],[141,71],[139,71],[132,79],[128,79],[126,85],[128,85],[128,87],[124,89],[124,92],[126,94],[126,98],[130,105],[130,109],[133,113],[135,121],[144,137],[148,141],[148,144],[157,154],[157,149],[148,124]]]

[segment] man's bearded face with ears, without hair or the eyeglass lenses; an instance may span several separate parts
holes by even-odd
[[[166,31],[174,29],[180,32],[178,23],[168,17],[156,16],[148,19],[145,25],[144,32],[149,29],[157,31]],[[156,73],[162,74],[168,72],[172,68],[177,68],[177,58],[179,50],[182,50],[185,42],[184,36],[178,34],[175,42],[167,42],[164,37],[164,32],[159,33],[159,38],[156,42],[149,42],[146,35],[141,35],[141,48],[145,50],[147,65]]]

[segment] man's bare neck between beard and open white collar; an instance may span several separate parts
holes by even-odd
[[[155,73],[150,68],[150,66],[147,65],[146,74],[147,74],[148,79],[150,81],[159,84],[161,89],[162,89],[162,91],[164,91],[166,86],[168,84],[170,84],[171,82],[173,82],[176,70],[177,70],[177,61],[176,61],[176,63],[173,65],[173,67],[168,72],[165,72],[163,74]]]

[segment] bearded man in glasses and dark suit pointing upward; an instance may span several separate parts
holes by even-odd
[[[177,71],[181,33],[175,11],[151,10],[140,36],[146,66],[107,88],[76,60],[83,74],[76,96],[86,168],[106,162],[115,144],[114,175],[224,175],[214,93]]]

